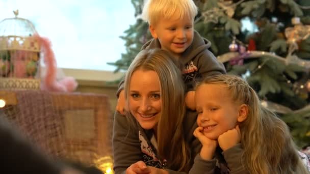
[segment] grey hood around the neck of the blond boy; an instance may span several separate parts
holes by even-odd
[[[185,65],[189,63],[199,53],[211,47],[211,42],[199,35],[194,31],[194,38],[192,44],[182,53],[180,61]],[[142,46],[143,49],[161,48],[161,44],[158,39],[151,39]]]

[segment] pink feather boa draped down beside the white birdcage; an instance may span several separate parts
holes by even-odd
[[[72,92],[77,87],[77,82],[73,77],[64,77],[57,80],[57,63],[54,51],[51,49],[51,43],[47,38],[34,35],[41,45],[41,51],[44,53],[44,64],[46,74],[41,81],[41,90],[50,92]]]

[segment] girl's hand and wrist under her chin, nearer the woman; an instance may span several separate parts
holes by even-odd
[[[211,160],[214,156],[218,142],[217,140],[209,139],[208,137],[204,136],[202,131],[203,127],[197,127],[194,131],[194,136],[198,138],[202,144],[200,157],[204,160]]]

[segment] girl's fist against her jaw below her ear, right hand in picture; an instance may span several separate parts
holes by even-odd
[[[223,151],[236,146],[241,141],[241,133],[239,126],[237,125],[234,129],[224,132],[218,137],[219,146]]]

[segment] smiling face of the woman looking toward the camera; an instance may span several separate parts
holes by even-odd
[[[134,71],[129,89],[129,108],[143,129],[156,128],[161,116],[162,99],[155,71]]]

